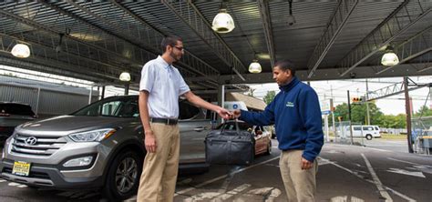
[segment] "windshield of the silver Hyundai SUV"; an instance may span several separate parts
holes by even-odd
[[[115,117],[138,117],[138,97],[115,97],[105,99],[86,106],[77,112],[74,116],[115,116]]]

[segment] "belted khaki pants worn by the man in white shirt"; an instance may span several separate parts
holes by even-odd
[[[151,123],[156,136],[155,153],[147,153],[139,180],[138,202],[170,202],[174,199],[180,155],[178,125]]]

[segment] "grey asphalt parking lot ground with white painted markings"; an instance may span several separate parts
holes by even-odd
[[[319,158],[317,201],[432,201],[432,157],[383,149],[380,141],[371,141],[377,147],[325,144]],[[273,148],[272,155],[257,157],[250,167],[212,166],[201,175],[180,176],[174,200],[286,201],[279,154]],[[105,201],[97,191],[35,189],[2,179],[0,198],[5,202]]]

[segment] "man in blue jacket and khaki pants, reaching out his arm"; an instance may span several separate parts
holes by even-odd
[[[261,113],[236,110],[233,116],[253,125],[276,126],[279,161],[288,201],[315,201],[316,157],[324,145],[321,109],[314,89],[296,76],[293,63],[277,62],[273,79],[279,92]]]

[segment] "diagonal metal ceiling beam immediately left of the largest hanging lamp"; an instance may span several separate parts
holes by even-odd
[[[231,48],[223,41],[220,35],[211,29],[211,24],[201,14],[200,10],[193,5],[191,0],[187,3],[183,1],[161,0],[170,11],[201,38],[201,41],[211,47],[211,50],[221,58],[221,60],[238,72],[245,72],[246,67],[242,61],[235,56]]]

